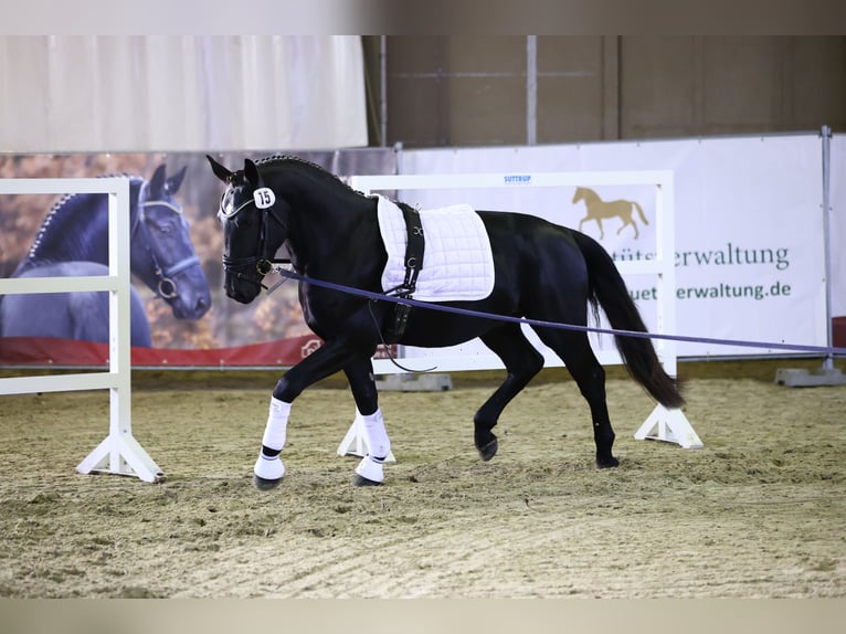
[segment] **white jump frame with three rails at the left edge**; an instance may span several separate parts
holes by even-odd
[[[109,369],[108,372],[0,378],[0,395],[108,389],[108,435],[77,465],[76,471],[161,482],[165,474],[135,440],[131,426],[129,179],[0,179],[0,196],[65,193],[108,194],[108,275],[0,278],[0,295],[107,290]]]

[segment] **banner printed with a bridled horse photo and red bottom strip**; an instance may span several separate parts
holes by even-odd
[[[275,154],[215,155],[231,163]],[[395,173],[392,149],[297,151],[340,177]],[[0,156],[0,179],[124,176],[130,184],[134,367],[289,367],[321,341],[296,284],[248,306],[222,288],[222,188],[203,154]],[[108,274],[106,194],[0,196],[0,278]],[[107,292],[0,295],[0,366],[108,363]]]

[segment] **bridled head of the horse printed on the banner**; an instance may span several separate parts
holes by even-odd
[[[211,307],[209,282],[197,257],[182,207],[173,198],[183,167],[168,178],[163,165],[144,183],[133,224],[133,272],[167,302],[178,319],[199,319]]]

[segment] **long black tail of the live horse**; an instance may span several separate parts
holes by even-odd
[[[589,300],[593,307],[598,303],[602,306],[614,329],[646,332],[641,313],[607,252],[583,233],[574,231],[573,236],[588,263]],[[680,408],[684,404],[678,380],[664,371],[651,339],[615,335],[614,342],[628,373],[656,401],[666,408]]]

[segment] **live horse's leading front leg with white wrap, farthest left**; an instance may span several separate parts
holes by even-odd
[[[288,415],[294,399],[314,382],[340,371],[356,355],[342,340],[326,341],[288,370],[276,383],[262,437],[262,451],[253,468],[253,483],[256,488],[274,488],[285,474],[279,453],[285,445]]]

